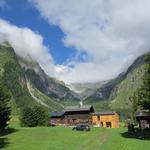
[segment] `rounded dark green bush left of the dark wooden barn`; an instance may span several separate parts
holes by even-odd
[[[48,111],[41,106],[26,107],[21,113],[20,121],[26,127],[45,126],[48,122]]]

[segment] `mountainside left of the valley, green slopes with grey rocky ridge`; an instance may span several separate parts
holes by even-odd
[[[18,57],[8,43],[0,45],[0,80],[12,95],[14,112],[32,105],[59,110],[63,108],[59,101],[78,100],[62,83],[47,77],[37,62]]]

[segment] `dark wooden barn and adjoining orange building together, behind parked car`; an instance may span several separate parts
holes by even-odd
[[[89,124],[104,128],[118,128],[119,115],[116,112],[94,112],[93,106],[71,106],[62,112],[52,112],[50,124],[73,126]]]

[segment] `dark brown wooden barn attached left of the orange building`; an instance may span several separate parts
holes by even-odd
[[[68,126],[80,123],[91,124],[91,113],[94,112],[93,106],[69,106],[62,112],[52,112],[50,124],[65,124]]]

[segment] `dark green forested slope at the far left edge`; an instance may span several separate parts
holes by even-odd
[[[1,79],[11,91],[17,105],[32,105],[34,102],[25,84],[24,71],[9,45],[0,45],[0,60]]]

